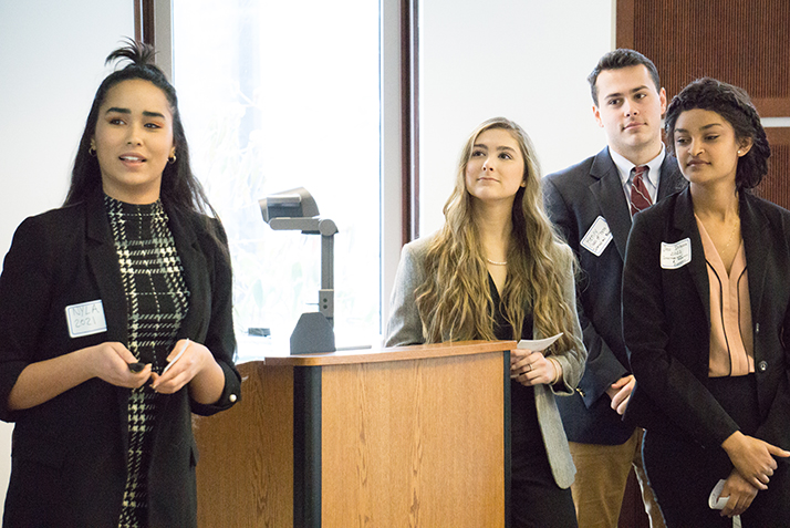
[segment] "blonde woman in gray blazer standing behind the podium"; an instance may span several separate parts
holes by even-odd
[[[562,333],[544,353],[511,355],[511,519],[517,527],[576,526],[575,468],[554,403],[585,360],[573,255],[543,211],[540,170],[516,123],[482,123],[461,152],[435,235],[406,245],[392,296],[388,346]]]

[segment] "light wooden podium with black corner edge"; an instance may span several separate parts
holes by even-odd
[[[502,527],[514,341],[266,358],[194,417],[198,522]]]

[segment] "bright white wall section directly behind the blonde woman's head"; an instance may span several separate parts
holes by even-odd
[[[441,226],[464,142],[489,117],[527,131],[543,174],[603,148],[586,76],[613,49],[614,3],[420,2],[420,235]]]

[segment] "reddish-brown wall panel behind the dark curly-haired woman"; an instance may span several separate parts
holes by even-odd
[[[762,117],[790,116],[790,2],[619,0],[616,44],[655,62],[672,99],[695,79],[738,85]],[[767,128],[769,174],[757,189],[790,208],[790,128]]]

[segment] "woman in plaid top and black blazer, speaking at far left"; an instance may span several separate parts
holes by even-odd
[[[197,526],[190,413],[240,394],[231,271],[150,46],[98,87],[62,208],[0,276],[7,527]]]

